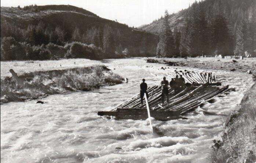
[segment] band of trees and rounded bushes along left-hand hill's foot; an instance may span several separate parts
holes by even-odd
[[[27,29],[10,23],[1,24],[1,60],[47,60],[58,58],[122,58],[129,50],[117,45],[118,36],[111,26],[96,27],[81,34],[78,28],[72,34],[61,27],[50,29],[40,22]],[[3,32],[3,33],[2,33]],[[3,36],[3,37],[2,37]]]

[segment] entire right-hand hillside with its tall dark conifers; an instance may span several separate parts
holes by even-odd
[[[140,30],[160,34],[157,55],[255,55],[256,1],[204,0]]]

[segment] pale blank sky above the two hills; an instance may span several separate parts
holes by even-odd
[[[189,7],[195,0],[1,0],[1,7],[37,4],[69,4],[84,8],[94,14],[128,26],[149,24],[164,15]]]

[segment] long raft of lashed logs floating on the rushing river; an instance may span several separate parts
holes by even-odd
[[[174,78],[176,75],[183,75],[187,83],[186,88],[176,95],[174,90],[169,88],[168,104],[160,105],[162,98],[160,86],[153,86],[147,89],[150,96],[148,99],[150,115],[158,121],[184,118],[183,115],[186,112],[194,110],[206,101],[232,90],[228,88],[228,85],[221,86],[221,83],[216,82],[216,76],[212,75],[212,73],[185,70],[175,71],[175,73],[169,74],[169,77]],[[113,116],[116,119],[145,120],[148,118],[145,100],[141,105],[139,93],[111,111],[99,111],[98,115]]]

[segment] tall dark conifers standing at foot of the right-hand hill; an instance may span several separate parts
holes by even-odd
[[[209,0],[208,0],[209,1]],[[200,55],[244,55],[256,50],[256,15],[248,10],[235,10],[236,18],[227,19],[228,6],[218,1],[208,9],[204,2],[193,3],[184,14],[184,26],[171,30],[168,11],[165,11],[163,31],[157,45],[158,57],[183,57]],[[214,12],[209,16],[210,11]],[[230,10],[233,11],[233,10]],[[184,11],[182,11],[184,12]],[[232,12],[230,12],[231,14]],[[229,15],[231,16],[231,15]],[[235,21],[233,24],[231,21]]]

